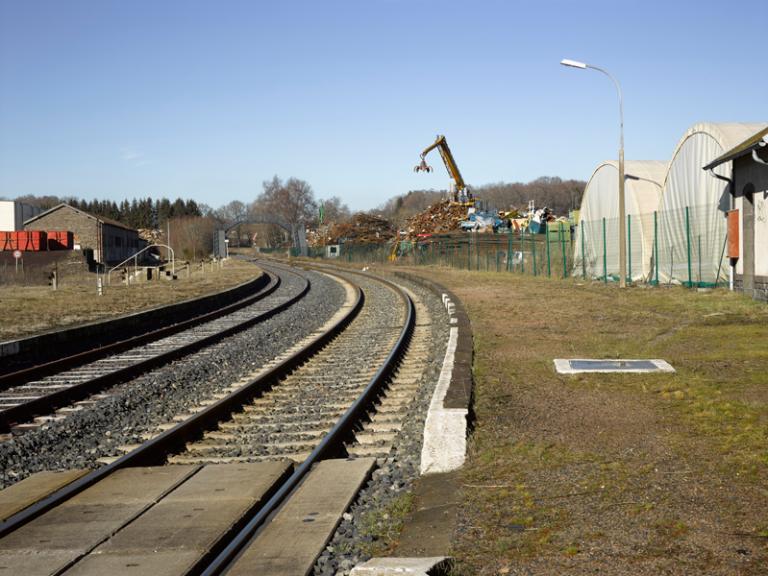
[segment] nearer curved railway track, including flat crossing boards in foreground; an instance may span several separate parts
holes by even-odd
[[[308,573],[390,453],[431,346],[416,295],[355,282],[362,289],[345,281],[345,305],[322,329],[141,446],[47,495],[32,482],[16,497],[30,505],[0,525],[0,569],[24,561],[36,568],[13,573]],[[114,492],[128,496],[116,502]],[[86,513],[102,515],[98,534],[63,533]],[[46,534],[48,552],[36,553],[30,543]]]

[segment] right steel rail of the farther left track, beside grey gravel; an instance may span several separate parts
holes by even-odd
[[[277,286],[280,284],[279,276],[276,278],[278,281],[274,283],[274,289],[270,291],[270,294],[274,292],[274,290],[276,290]],[[86,398],[89,395],[94,394],[108,386],[113,386],[120,382],[124,382],[127,379],[138,376],[139,374],[144,373],[152,368],[161,366],[163,364],[167,364],[168,362],[171,362],[176,358],[186,356],[188,354],[196,352],[201,348],[204,348],[215,342],[218,342],[219,340],[222,340],[227,336],[231,336],[232,334],[241,332],[253,326],[254,324],[268,320],[269,318],[273,317],[276,314],[279,314],[283,310],[289,308],[290,306],[298,302],[309,292],[310,281],[306,278],[304,280],[305,280],[305,284],[301,292],[291,297],[290,299],[286,300],[285,302],[282,302],[278,306],[275,306],[274,308],[271,308],[270,310],[267,310],[266,312],[263,312],[256,316],[253,316],[248,320],[245,320],[233,326],[229,326],[224,330],[216,332],[215,334],[210,334],[208,336],[205,336],[199,340],[196,340],[195,342],[183,344],[177,348],[174,348],[173,350],[168,350],[167,352],[161,352],[145,360],[140,360],[139,362],[136,362],[135,364],[131,364],[130,366],[126,366],[124,368],[118,368],[113,372],[109,372],[107,374],[97,376],[95,378],[92,378],[82,383],[73,384],[68,388],[64,388],[62,390],[53,392],[51,394],[46,394],[45,396],[41,396],[40,398],[37,398],[35,400],[30,400],[22,404],[19,404],[18,406],[14,406],[12,408],[3,410],[2,412],[0,412],[0,431],[8,431],[10,430],[11,426],[15,424],[18,424],[21,422],[27,422],[32,418],[34,418],[35,416],[39,416],[41,414],[50,413],[51,411],[55,410],[60,406],[71,404],[72,402]],[[240,304],[240,302],[237,302],[235,304]],[[237,308],[242,308],[242,306],[238,306]],[[236,309],[230,308],[229,312],[230,313],[234,312],[236,311]],[[224,315],[221,310],[215,311],[214,314],[216,314],[216,317],[221,317]],[[215,318],[209,318],[209,320],[213,320],[213,319]],[[194,320],[196,321],[197,319],[194,319]],[[195,322],[193,326],[195,325],[200,325],[200,322]],[[161,330],[164,330],[164,329],[161,329]]]

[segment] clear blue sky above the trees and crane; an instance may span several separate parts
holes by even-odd
[[[253,200],[277,174],[375,207],[668,160],[700,121],[766,121],[768,2],[0,0],[0,196]]]

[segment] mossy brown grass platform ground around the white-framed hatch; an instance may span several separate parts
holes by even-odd
[[[458,574],[765,574],[768,307],[428,274],[475,334]],[[664,358],[677,373],[565,377],[557,357]]]

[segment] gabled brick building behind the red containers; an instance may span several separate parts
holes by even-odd
[[[94,216],[69,204],[59,204],[30,218],[25,230],[69,230],[76,250],[93,250],[100,264],[117,264],[146,246],[139,233],[120,222]]]

